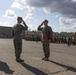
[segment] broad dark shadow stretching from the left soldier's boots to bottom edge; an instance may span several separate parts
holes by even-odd
[[[25,67],[27,70],[33,72],[35,75],[48,75],[42,71],[40,71],[39,69],[32,67],[26,63],[20,63],[23,67]]]

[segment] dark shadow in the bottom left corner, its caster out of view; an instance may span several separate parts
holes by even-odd
[[[6,74],[13,74],[14,71],[10,70],[9,66],[5,63],[0,61],[0,71],[4,71]]]

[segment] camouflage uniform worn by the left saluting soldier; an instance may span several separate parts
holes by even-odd
[[[20,58],[20,54],[22,52],[22,32],[27,30],[27,26],[25,27],[21,24],[16,24],[13,27],[13,36],[14,36],[14,48],[15,48],[15,56],[16,58]]]

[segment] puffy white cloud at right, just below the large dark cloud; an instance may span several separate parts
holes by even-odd
[[[70,19],[70,18],[65,18],[65,17],[60,17],[59,22],[60,22],[60,30],[73,30],[76,28],[76,24],[73,25],[73,21],[75,19]]]

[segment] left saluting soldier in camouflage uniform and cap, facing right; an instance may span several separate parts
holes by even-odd
[[[26,23],[23,21],[22,17],[17,18],[18,23],[13,26],[12,35],[14,37],[14,48],[16,61],[23,62],[24,60],[20,59],[22,52],[22,33],[28,29]],[[23,22],[24,26],[21,24]]]

